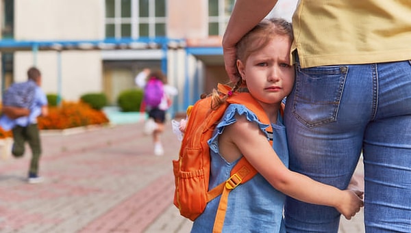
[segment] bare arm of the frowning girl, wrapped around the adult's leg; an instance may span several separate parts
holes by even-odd
[[[239,116],[237,122],[226,126],[220,136],[222,154],[241,153],[278,191],[302,202],[333,206],[347,219],[360,210],[360,191],[341,191],[308,176],[290,171],[284,166],[257,124]],[[227,143],[229,140],[232,141]],[[234,145],[234,146],[233,146]],[[308,189],[308,187],[310,187]]]

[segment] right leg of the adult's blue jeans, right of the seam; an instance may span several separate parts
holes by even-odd
[[[377,113],[364,135],[366,232],[411,232],[411,63],[377,72]]]

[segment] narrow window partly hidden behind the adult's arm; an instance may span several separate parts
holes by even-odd
[[[235,0],[208,0],[208,35],[222,36]]]

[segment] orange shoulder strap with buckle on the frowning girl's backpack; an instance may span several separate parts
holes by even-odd
[[[231,90],[231,87],[219,84],[219,91],[227,93]],[[258,120],[264,124],[268,124],[267,133],[271,135],[269,143],[273,146],[273,128],[271,126],[270,120],[266,115],[264,109],[261,105],[254,99],[249,93],[234,93],[233,96],[227,98],[229,103],[238,103],[245,105],[247,109],[255,113]],[[227,202],[229,192],[235,189],[239,184],[245,183],[257,174],[257,170],[247,161],[247,159],[242,156],[238,163],[233,167],[230,178],[225,182],[217,185],[214,189],[208,191],[208,202],[213,200],[215,197],[221,194],[219,207],[217,208],[216,218],[214,220],[213,232],[221,232],[223,230],[223,224],[225,220],[225,213],[227,211]]]

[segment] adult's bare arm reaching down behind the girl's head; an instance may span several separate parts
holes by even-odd
[[[237,0],[223,36],[225,70],[229,79],[237,81],[236,43],[273,9],[277,0]]]

